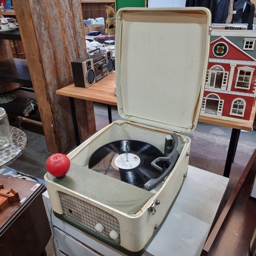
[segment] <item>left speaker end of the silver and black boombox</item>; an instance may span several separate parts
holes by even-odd
[[[93,59],[80,58],[71,61],[71,67],[76,87],[88,88],[95,83]]]

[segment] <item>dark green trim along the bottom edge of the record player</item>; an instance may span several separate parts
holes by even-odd
[[[186,172],[186,174],[187,174],[187,172]],[[186,174],[185,174],[185,175],[186,175]],[[183,183],[184,183],[184,180],[185,180],[185,177],[183,178],[182,185],[183,185]],[[82,232],[85,232],[85,233],[89,234],[90,236],[92,236],[92,237],[98,239],[99,241],[101,241],[101,242],[103,242],[103,243],[105,243],[105,244],[107,244],[107,245],[109,245],[109,246],[115,248],[115,249],[118,250],[118,251],[121,251],[122,253],[124,253],[124,254],[126,254],[126,255],[128,255],[128,256],[141,256],[141,255],[145,252],[146,248],[147,248],[147,247],[150,245],[150,243],[153,241],[153,239],[155,238],[156,234],[158,233],[158,231],[159,231],[160,228],[162,227],[163,223],[165,222],[167,216],[169,215],[170,209],[172,209],[172,207],[173,207],[173,205],[174,205],[174,203],[175,203],[177,197],[178,197],[179,194],[180,194],[180,190],[181,190],[181,188],[182,188],[182,185],[181,185],[181,187],[180,187],[180,189],[179,189],[179,191],[178,191],[178,193],[177,193],[177,195],[176,195],[176,197],[175,197],[173,203],[170,205],[170,207],[169,207],[169,209],[168,209],[168,211],[167,211],[167,213],[166,213],[166,215],[165,215],[163,221],[162,221],[161,224],[159,225],[159,228],[154,231],[154,233],[152,234],[150,240],[148,240],[148,242],[145,244],[145,246],[144,246],[141,250],[135,251],[135,252],[134,252],[134,251],[129,251],[129,250],[123,248],[121,245],[119,245],[119,243],[117,243],[117,242],[115,242],[115,241],[113,241],[113,240],[111,240],[111,239],[105,238],[105,237],[101,236],[101,234],[99,234],[99,233],[97,233],[97,232],[95,232],[95,231],[93,231],[93,230],[91,230],[91,229],[89,229],[89,228],[87,228],[87,227],[85,227],[85,226],[83,226],[83,225],[77,223],[76,221],[71,220],[71,219],[68,218],[65,214],[57,214],[57,212],[55,212],[55,211],[53,211],[53,214],[54,214],[55,217],[57,217],[58,219],[60,219],[60,220],[62,220],[62,221],[64,221],[64,222],[70,224],[71,226],[73,226],[73,227],[75,227],[75,228],[81,230]]]

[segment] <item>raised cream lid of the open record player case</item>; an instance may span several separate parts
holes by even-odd
[[[189,133],[200,114],[210,45],[206,8],[122,8],[115,65],[120,117]]]

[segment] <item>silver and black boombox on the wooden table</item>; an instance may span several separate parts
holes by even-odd
[[[101,53],[100,49],[96,49],[90,53],[88,58],[71,62],[76,87],[88,88],[114,70],[112,50]]]

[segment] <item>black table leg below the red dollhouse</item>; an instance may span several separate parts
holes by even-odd
[[[223,174],[223,176],[227,178],[229,177],[233,158],[234,158],[234,155],[236,154],[240,132],[241,130],[234,129],[234,128],[232,129],[232,132],[231,132],[231,137],[230,137],[228,152],[227,152],[227,159],[226,159],[226,164],[225,164],[225,169]]]

